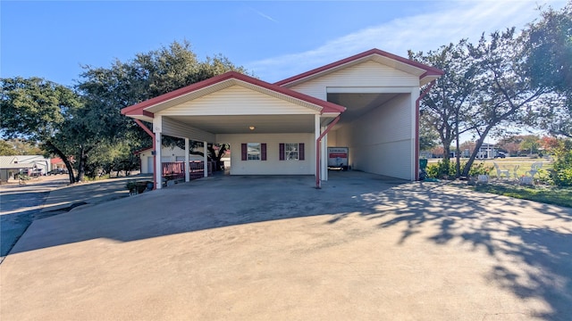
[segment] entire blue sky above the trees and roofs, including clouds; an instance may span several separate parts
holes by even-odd
[[[81,65],[109,67],[188,40],[274,82],[371,48],[407,56],[516,26],[543,1],[1,1],[0,77],[72,86]],[[553,8],[565,1],[548,2]]]

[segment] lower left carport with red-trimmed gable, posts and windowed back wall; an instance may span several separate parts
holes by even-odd
[[[156,146],[161,145],[163,135],[183,138],[186,173],[189,141],[193,140],[203,142],[205,155],[209,143],[231,144],[240,151],[231,154],[231,175],[318,172],[318,177],[320,158],[314,152],[319,152],[315,146],[342,111],[345,108],[335,103],[231,71],[127,107],[122,114],[138,120],[154,137],[156,160],[161,160],[161,149]],[[152,123],[153,131],[140,120]],[[251,157],[249,149],[255,144],[259,156]],[[285,144],[297,144],[296,160],[284,158]],[[156,182],[161,181],[160,166],[155,161]],[[185,178],[189,181],[188,175]],[[156,184],[156,188],[161,185]]]

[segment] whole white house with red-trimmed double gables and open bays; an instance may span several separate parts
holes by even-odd
[[[428,90],[442,74],[372,49],[273,84],[227,72],[122,114],[155,146],[162,136],[184,138],[187,146],[230,144],[231,175],[314,175],[319,187],[328,178],[327,147],[344,146],[351,169],[416,180],[420,87],[431,84]],[[161,160],[162,149],[154,150]]]

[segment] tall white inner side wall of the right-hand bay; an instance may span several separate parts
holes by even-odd
[[[413,179],[411,118],[411,95],[397,95],[374,111],[332,132],[328,145],[349,147],[352,169]]]

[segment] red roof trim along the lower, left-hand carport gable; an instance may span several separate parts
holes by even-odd
[[[307,103],[316,104],[318,106],[323,107],[322,112],[343,112],[346,110],[345,107],[342,107],[338,104],[325,102],[321,99],[317,99],[317,98],[309,96],[309,95],[304,95],[304,94],[301,94],[299,92],[293,91],[291,89],[284,88],[282,86],[276,86],[276,85],[267,83],[265,81],[262,81],[260,79],[252,78],[252,77],[247,76],[247,75],[243,75],[243,74],[236,72],[236,71],[229,71],[229,72],[223,73],[222,75],[214,76],[213,78],[208,78],[208,79],[200,81],[198,83],[195,83],[195,84],[174,90],[170,93],[160,95],[160,96],[157,96],[155,98],[151,98],[145,102],[141,102],[141,103],[137,103],[137,104],[134,104],[132,106],[129,106],[129,107],[125,107],[122,109],[122,114],[127,115],[127,116],[145,114],[146,111],[144,111],[144,109],[146,109],[147,107],[154,106],[158,103],[164,103],[166,101],[180,97],[181,95],[187,95],[187,94],[195,92],[199,89],[205,88],[207,86],[213,86],[215,84],[221,83],[225,80],[232,79],[232,78],[247,82],[251,85],[260,86],[260,87],[266,88],[268,90],[272,90],[272,91],[280,93],[282,95],[288,95],[290,97],[297,98],[297,99],[299,99],[301,101],[305,101]]]

